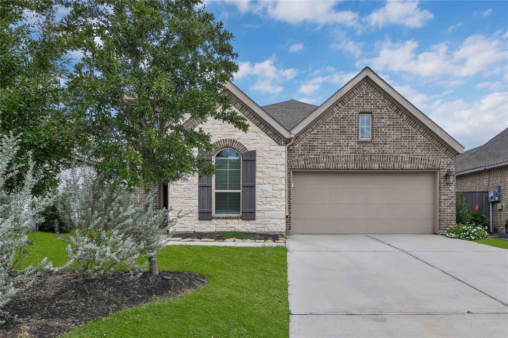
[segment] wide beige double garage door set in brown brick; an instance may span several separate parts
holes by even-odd
[[[434,172],[293,172],[293,233],[433,233]]]

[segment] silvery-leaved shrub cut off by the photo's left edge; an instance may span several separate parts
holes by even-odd
[[[19,140],[11,136],[0,137],[0,315],[9,314],[2,309],[18,292],[30,286],[38,274],[33,266],[20,268],[19,263],[27,252],[30,241],[26,232],[34,230],[42,221],[41,211],[50,200],[34,197],[32,189],[39,181],[34,173],[31,158],[27,166],[15,164]],[[23,176],[22,183],[7,189],[6,182],[14,176]],[[41,266],[46,265],[46,259]],[[0,319],[2,323],[2,319]]]

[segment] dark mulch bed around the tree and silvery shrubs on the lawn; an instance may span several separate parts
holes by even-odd
[[[164,278],[163,278],[164,277]],[[111,312],[150,301],[178,297],[205,286],[203,276],[161,271],[151,278],[128,272],[85,278],[74,271],[43,272],[26,291],[6,305],[16,319],[6,319],[2,337],[59,335]]]

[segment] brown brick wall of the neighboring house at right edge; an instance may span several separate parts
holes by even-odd
[[[481,172],[457,176],[457,191],[489,191],[494,190],[494,186],[501,187],[501,204],[508,203],[508,165],[485,170]],[[497,204],[492,206],[492,229],[497,232],[499,223],[501,223],[500,232],[504,232],[504,220],[508,217],[508,208],[503,206],[499,214]],[[499,217],[500,216],[500,217]],[[487,215],[488,217],[488,215]],[[501,218],[499,222],[499,218]]]

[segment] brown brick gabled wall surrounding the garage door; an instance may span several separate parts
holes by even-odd
[[[371,140],[359,140],[359,113],[372,114]],[[455,153],[405,113],[384,91],[364,80],[302,130],[288,147],[288,213],[296,169],[438,170],[439,230],[455,223]]]

